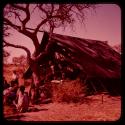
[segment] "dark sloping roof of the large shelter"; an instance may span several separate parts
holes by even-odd
[[[51,40],[49,40],[49,33],[45,32],[40,44],[40,52],[44,51],[46,46],[51,43],[56,43],[58,50],[69,50],[72,55],[71,58],[68,58],[70,62],[79,65],[90,77],[120,78],[121,76],[121,56],[106,41],[55,33],[52,34]],[[24,77],[27,77],[28,72],[30,72],[29,68]]]

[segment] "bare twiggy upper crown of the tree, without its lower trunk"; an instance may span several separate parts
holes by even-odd
[[[35,10],[42,13],[42,18],[40,22],[36,25],[35,29],[27,28],[26,24],[32,18],[31,13],[35,12]],[[89,4],[35,4],[33,11],[30,11],[30,4],[10,4],[7,8],[5,8],[4,14],[4,24],[6,26],[10,26],[16,29],[18,32],[24,34],[25,36],[32,39],[32,42],[35,46],[36,57],[39,55],[39,41],[37,37],[37,33],[41,32],[40,28],[44,28],[45,25],[50,26],[50,32],[52,33],[54,28],[58,28],[61,26],[67,26],[68,24],[74,24],[75,20],[84,21],[85,19],[85,11],[84,9],[92,8]],[[73,10],[73,11],[72,11]],[[21,12],[23,12],[26,16],[21,17]],[[15,24],[13,20],[9,20],[11,17],[13,18],[13,14],[16,18],[18,18],[19,24]],[[38,14],[39,15],[39,14]],[[75,15],[78,18],[75,18]],[[40,15],[39,15],[40,16]],[[47,27],[48,28],[48,27]],[[50,34],[51,34],[50,33]],[[7,34],[8,35],[8,34]],[[51,36],[51,35],[50,35]],[[38,51],[38,52],[37,52]]]

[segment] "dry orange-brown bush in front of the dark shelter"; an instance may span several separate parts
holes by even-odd
[[[86,86],[79,79],[64,81],[62,84],[53,83],[52,101],[53,102],[79,102],[80,95],[85,94]]]

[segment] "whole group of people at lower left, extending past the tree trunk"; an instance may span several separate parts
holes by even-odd
[[[19,76],[16,71],[13,71],[12,80],[8,84],[3,77],[3,104],[14,105],[19,112],[26,112],[31,105],[37,104],[46,100],[47,93],[44,85],[36,88],[35,84],[31,83],[29,92],[25,91],[25,86],[19,86]]]

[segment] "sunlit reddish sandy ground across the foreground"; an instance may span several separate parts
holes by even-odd
[[[16,121],[116,121],[121,115],[121,97],[94,95],[81,103],[49,103],[29,107],[26,113],[16,113],[4,107],[6,120]]]

